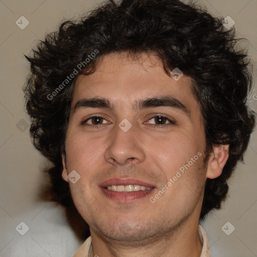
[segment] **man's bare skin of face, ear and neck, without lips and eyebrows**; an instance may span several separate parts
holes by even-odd
[[[204,165],[203,117],[191,87],[189,77],[175,81],[155,55],[146,53],[138,58],[106,55],[93,74],[78,77],[62,177],[70,183],[74,203],[89,224],[94,255],[200,256],[198,224],[205,181],[221,174],[228,146],[214,146]],[[133,108],[136,101],[159,96],[176,98],[189,113],[169,106]],[[79,100],[93,97],[108,99],[115,109],[74,110]],[[93,115],[103,117],[100,125],[92,125],[95,119],[83,123]],[[156,115],[173,123],[165,119],[158,123]],[[132,124],[127,132],[118,126],[123,119]],[[152,203],[150,197],[198,152],[201,157]],[[75,184],[67,178],[72,170],[81,176]],[[117,202],[99,188],[113,177],[135,178],[156,188],[141,199]]]

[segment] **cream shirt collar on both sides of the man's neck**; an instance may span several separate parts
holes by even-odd
[[[207,234],[204,228],[199,224],[198,233],[200,236],[201,243],[203,245],[202,252],[199,257],[210,257],[210,244],[207,237]],[[89,236],[85,242],[79,247],[79,249],[75,252],[73,257],[94,257],[93,249],[92,249],[92,241],[91,236]]]

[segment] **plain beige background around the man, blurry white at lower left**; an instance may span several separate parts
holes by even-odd
[[[60,21],[95,7],[100,0],[0,0],[0,81],[1,81],[1,179],[0,179],[0,256],[3,257],[68,257],[81,244],[67,222],[63,211],[53,203],[38,200],[45,179],[40,169],[45,160],[33,148],[24,111],[22,86],[29,72],[24,54],[29,54],[46,32],[57,29]],[[203,0],[209,12],[230,16],[235,21],[238,37],[249,48],[257,63],[256,0]],[[20,29],[16,21],[24,16],[29,25]],[[255,67],[256,68],[256,67]],[[256,74],[255,74],[256,77]],[[255,94],[255,96],[254,96]],[[255,99],[255,100],[254,100]],[[257,88],[249,96],[251,108],[257,111]],[[257,256],[257,137],[252,135],[245,155],[230,180],[229,198],[224,209],[214,212],[203,223],[211,245],[212,257]],[[25,235],[16,227],[29,226]],[[226,235],[222,226],[229,221],[235,230]],[[231,228],[231,225],[228,227]]]

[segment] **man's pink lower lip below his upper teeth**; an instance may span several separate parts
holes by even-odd
[[[152,188],[150,190],[144,190],[144,191],[139,190],[139,191],[133,191],[133,192],[115,192],[112,190],[105,189],[103,187],[100,187],[100,189],[102,190],[105,196],[118,202],[127,202],[127,201],[140,199],[151,194],[154,190],[154,188]]]

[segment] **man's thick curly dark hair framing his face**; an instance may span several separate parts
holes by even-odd
[[[93,73],[106,54],[149,52],[162,60],[167,74],[179,67],[192,79],[204,118],[206,156],[214,145],[229,145],[222,174],[206,181],[200,219],[220,208],[228,192],[227,179],[243,161],[255,124],[246,103],[252,83],[249,58],[245,50],[237,49],[234,28],[227,30],[222,20],[179,0],[110,0],[79,21],[63,22],[26,56],[31,63],[24,87],[30,132],[35,147],[53,164],[47,170],[51,200],[74,211],[68,183],[61,178],[61,155],[76,78]],[[58,85],[63,86],[56,91]]]

